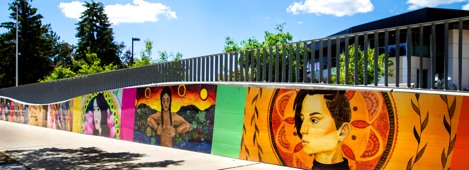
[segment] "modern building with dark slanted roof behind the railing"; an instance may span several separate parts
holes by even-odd
[[[428,23],[428,22],[434,22],[434,21],[441,21],[441,20],[447,20],[447,19],[454,19],[454,18],[460,18],[460,17],[466,17],[469,16],[469,11],[467,10],[455,10],[455,9],[441,9],[441,8],[422,8],[418,9],[415,11],[411,11],[408,13],[400,14],[400,15],[395,15],[391,16],[388,18],[384,18],[381,20],[373,21],[370,23],[364,23],[361,25],[357,25],[351,28],[348,28],[346,30],[337,32],[331,36],[328,37],[334,37],[334,36],[340,36],[340,35],[347,35],[347,34],[352,34],[352,33],[358,33],[358,32],[365,32],[365,31],[373,31],[373,30],[381,30],[381,29],[388,29],[388,28],[393,28],[393,27],[400,27],[400,26],[406,26],[406,25],[412,25],[412,24],[420,24],[420,23]],[[457,57],[458,57],[458,22],[455,23],[449,23],[449,41],[448,41],[448,76],[452,77],[448,81],[449,84],[455,84],[458,85],[458,79],[457,79],[457,74],[458,74],[458,65],[457,65]],[[419,53],[420,53],[420,48],[419,48],[419,34],[420,30],[419,28],[412,28],[412,59],[411,59],[411,83],[415,83],[418,87],[417,84],[417,79],[419,73]],[[395,63],[395,44],[396,44],[396,31],[389,31],[389,57],[391,60]],[[424,76],[424,88],[431,88],[431,83],[435,83],[435,77],[436,79],[442,79],[443,78],[443,73],[444,73],[444,24],[437,24],[436,25],[436,76],[435,77],[430,77],[430,66],[431,66],[431,26],[424,26],[424,71],[423,71],[423,76]],[[407,83],[407,30],[401,30],[399,39],[400,39],[400,54],[399,56],[401,57],[400,59],[400,83]],[[363,51],[363,40],[364,37],[359,36],[359,45],[361,46],[361,50]],[[349,45],[354,44],[355,38],[350,37],[349,39]],[[374,49],[374,43],[375,38],[374,34],[370,34],[368,37],[368,48],[369,49]],[[336,42],[335,40],[332,40],[331,42],[332,46],[332,67],[335,67],[336,63]],[[344,46],[345,46],[345,39],[341,39],[340,42],[340,54],[344,53]],[[384,54],[384,32],[378,33],[378,54]],[[309,44],[308,47],[310,48],[311,45]],[[324,49],[324,62],[322,64],[322,71],[323,75],[327,75],[327,41],[324,41],[323,45]],[[319,42],[316,42],[315,44],[315,77],[319,77]],[[310,61],[311,62],[311,61]],[[390,66],[390,68],[393,68],[394,73],[395,73],[395,64],[394,66]],[[469,89],[469,22],[465,21],[463,22],[463,60],[462,60],[462,87]],[[310,76],[310,74],[309,74]],[[454,78],[453,78],[454,77]],[[334,80],[332,80],[334,82]],[[390,86],[393,86],[391,84],[395,83],[395,77],[389,77],[389,84]],[[380,81],[378,84],[384,84],[384,77],[381,77]]]

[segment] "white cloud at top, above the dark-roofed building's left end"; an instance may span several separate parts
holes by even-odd
[[[300,11],[316,13],[316,15],[354,15],[373,11],[374,6],[370,0],[305,0],[294,2],[287,8],[287,13],[298,15]]]

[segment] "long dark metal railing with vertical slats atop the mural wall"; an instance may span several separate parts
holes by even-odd
[[[68,100],[88,93],[96,93],[106,90],[119,89],[129,86],[148,85],[163,82],[191,82],[191,81],[244,81],[244,82],[284,82],[284,83],[309,83],[308,72],[310,71],[310,82],[314,83],[314,58],[311,60],[308,69],[308,63],[311,56],[316,56],[315,45],[319,42],[319,63],[323,65],[324,41],[327,41],[327,84],[332,84],[332,42],[336,41],[336,65],[339,65],[339,55],[341,47],[345,47],[345,84],[348,84],[348,65],[349,52],[348,46],[350,38],[355,39],[355,44],[359,44],[359,36],[363,36],[363,51],[368,50],[369,37],[374,35],[374,85],[378,85],[378,33],[385,33],[384,61],[389,58],[389,32],[395,31],[395,35],[400,35],[401,31],[406,31],[406,49],[407,49],[407,68],[411,68],[411,44],[412,28],[419,28],[419,82],[411,82],[411,76],[407,76],[407,87],[411,83],[419,83],[419,88],[423,87],[423,39],[424,27],[431,28],[431,77],[435,77],[436,70],[436,26],[444,24],[444,77],[448,77],[448,29],[449,23],[459,24],[459,46],[458,46],[458,88],[461,91],[462,80],[462,21],[469,20],[469,17],[444,20],[431,23],[422,23],[408,26],[395,27],[390,29],[360,32],[354,34],[327,37],[323,39],[314,39],[300,41],[275,46],[266,46],[252,49],[245,49],[235,52],[207,55],[202,57],[190,58],[185,60],[164,62],[158,64],[145,65],[135,68],[113,70],[108,72],[90,74],[79,77],[71,77],[60,80],[21,85],[0,89],[0,96],[10,97],[16,100],[42,104],[53,103]],[[341,40],[344,45],[341,45]],[[353,41],[352,41],[353,42]],[[306,46],[310,43],[310,49]],[[396,55],[400,54],[400,38],[396,38]],[[353,43],[352,43],[353,44]],[[403,43],[402,43],[403,44]],[[295,49],[295,50],[294,50]],[[306,49],[306,50],[305,50]],[[358,51],[361,50],[355,46],[354,61],[354,85],[358,85]],[[366,59],[368,53],[364,53]],[[398,55],[399,56],[399,55]],[[303,62],[304,61],[304,62]],[[302,64],[303,63],[303,64]],[[295,65],[295,67],[294,67]],[[363,63],[363,82],[368,82],[368,62]],[[388,86],[388,63],[384,62],[384,85]],[[400,83],[400,57],[395,57],[395,85],[399,87]],[[336,75],[340,75],[340,69],[336,69]],[[411,70],[407,69],[407,75],[411,75]],[[323,77],[322,67],[319,68],[319,77]],[[321,78],[320,78],[321,79]],[[321,81],[319,81],[321,82]],[[339,76],[336,76],[335,84],[339,84]],[[444,88],[448,87],[447,78],[444,79]],[[435,89],[435,84],[431,83],[431,89]]]

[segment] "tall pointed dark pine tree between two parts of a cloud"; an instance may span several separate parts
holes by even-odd
[[[104,7],[101,2],[91,3],[86,2],[83,5],[87,9],[82,13],[80,22],[76,23],[78,27],[76,30],[76,37],[79,38],[78,47],[76,49],[75,60],[84,59],[86,62],[86,50],[91,53],[98,54],[101,64],[108,65],[113,63],[121,65],[121,60],[118,56],[119,46],[113,42],[113,29],[109,28],[108,17],[104,12]]]

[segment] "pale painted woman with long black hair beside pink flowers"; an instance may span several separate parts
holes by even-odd
[[[87,121],[83,124],[85,134],[114,138],[116,128],[114,119],[111,117],[109,105],[102,93],[98,93],[90,100],[86,112]]]

